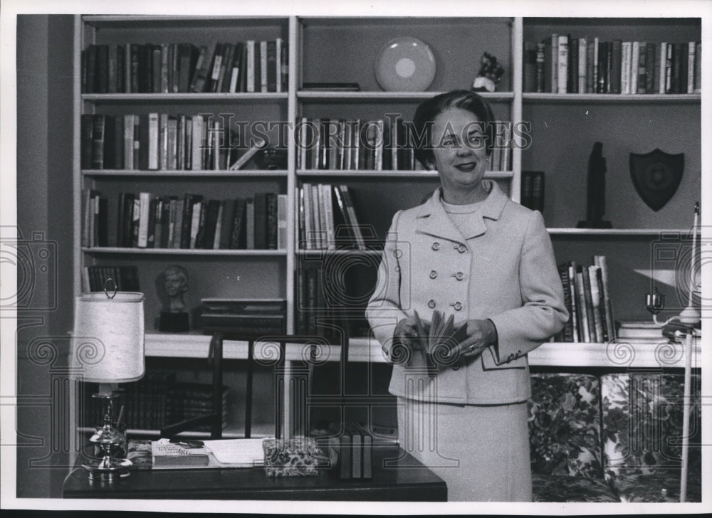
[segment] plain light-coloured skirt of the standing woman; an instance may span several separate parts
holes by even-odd
[[[447,484],[451,502],[531,502],[527,403],[398,398],[401,448]]]

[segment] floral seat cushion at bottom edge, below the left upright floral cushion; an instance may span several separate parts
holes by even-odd
[[[600,478],[532,474],[534,502],[619,502]]]

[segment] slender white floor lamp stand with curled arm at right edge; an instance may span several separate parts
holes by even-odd
[[[682,459],[681,459],[681,469],[680,469],[680,502],[685,502],[687,497],[687,469],[688,469],[688,458],[690,449],[690,392],[691,392],[691,371],[692,371],[692,347],[693,338],[695,337],[695,329],[701,322],[701,312],[696,307],[693,300],[693,293],[698,292],[701,289],[701,285],[698,284],[696,275],[700,273],[701,265],[696,263],[696,249],[697,249],[697,228],[698,228],[698,217],[700,215],[700,204],[695,203],[693,222],[692,222],[692,254],[690,259],[690,285],[688,290],[687,306],[684,310],[676,317],[670,317],[664,322],[658,320],[658,313],[665,309],[665,297],[661,293],[654,290],[652,293],[646,295],[645,298],[645,309],[651,312],[653,315],[653,321],[660,327],[664,327],[670,322],[678,321],[683,327],[683,331],[676,331],[676,334],[685,335],[685,381],[684,381],[684,395],[683,395],[683,421],[682,421]]]

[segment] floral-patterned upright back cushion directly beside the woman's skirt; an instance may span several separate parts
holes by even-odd
[[[588,374],[532,374],[531,381],[532,472],[601,478],[598,378]]]

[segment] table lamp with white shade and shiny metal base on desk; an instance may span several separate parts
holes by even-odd
[[[82,381],[99,384],[93,397],[105,408],[103,425],[90,438],[100,458],[83,464],[90,480],[116,480],[131,465],[113,400],[117,384],[137,381],[145,371],[143,301],[143,293],[107,290],[75,298],[70,363]]]

